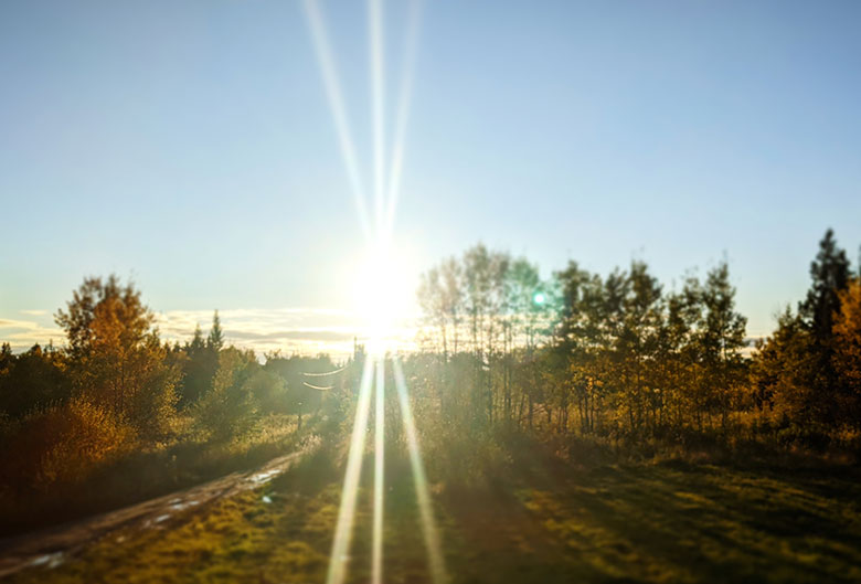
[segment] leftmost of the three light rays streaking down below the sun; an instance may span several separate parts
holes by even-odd
[[[332,551],[329,556],[327,584],[342,584],[346,574],[347,554],[350,552],[353,519],[355,518],[355,499],[359,495],[359,478],[362,474],[362,455],[364,454],[368,414],[371,408],[371,381],[373,373],[374,363],[368,359],[364,362],[359,389],[359,403],[355,406],[355,420],[353,421],[353,433],[350,438],[347,471],[344,472],[343,488],[341,489],[341,506],[338,510],[338,523],[334,528]]]

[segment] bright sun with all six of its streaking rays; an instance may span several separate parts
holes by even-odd
[[[320,62],[323,85],[329,100],[329,107],[334,119],[341,147],[341,156],[347,167],[347,173],[353,191],[359,219],[366,241],[371,244],[370,252],[362,273],[357,278],[359,289],[354,295],[359,309],[365,314],[369,326],[370,355],[364,362],[362,380],[359,389],[359,402],[355,407],[355,418],[350,438],[350,449],[344,471],[341,502],[338,510],[338,522],[334,529],[329,573],[327,584],[342,584],[347,573],[347,561],[352,541],[352,530],[355,519],[355,502],[359,495],[359,480],[362,471],[365,434],[371,407],[371,383],[376,378],[374,408],[374,490],[373,490],[373,533],[371,556],[371,582],[383,582],[383,509],[385,492],[385,355],[390,349],[395,320],[401,316],[401,307],[406,306],[406,299],[412,294],[410,289],[401,289],[397,278],[402,273],[393,261],[391,234],[394,213],[401,189],[401,172],[403,168],[404,140],[406,121],[410,115],[413,86],[413,66],[418,42],[418,21],[421,0],[412,0],[410,24],[406,33],[406,51],[403,61],[400,100],[396,116],[395,138],[392,151],[391,176],[385,174],[385,83],[383,51],[383,6],[382,0],[368,0],[370,61],[371,61],[371,116],[373,127],[374,155],[374,233],[371,232],[365,193],[359,174],[359,166],[343,105],[341,87],[332,59],[329,39],[323,19],[317,6],[317,0],[305,0],[305,12],[311,29],[315,49]],[[387,178],[387,181],[386,181]],[[447,580],[443,561],[439,534],[431,508],[431,496],[427,488],[422,454],[418,447],[418,436],[410,408],[410,397],[406,390],[401,362],[395,358],[394,378],[397,401],[406,433],[410,450],[410,464],[415,482],[416,499],[419,509],[422,533],[429,559],[431,577],[434,584],[444,584]],[[305,382],[307,385],[308,383]],[[313,387],[313,385],[310,385]],[[317,387],[317,389],[322,389]]]

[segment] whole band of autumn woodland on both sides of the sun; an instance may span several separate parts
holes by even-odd
[[[533,477],[544,456],[567,469],[553,472],[585,460],[659,465],[637,467],[628,487],[612,487],[619,492],[639,488],[642,472],[662,472],[653,484],[665,488],[678,478],[667,475],[678,469],[660,466],[668,460],[706,465],[684,468],[730,465],[727,477],[740,465],[854,467],[861,454],[859,266],[830,230],[811,255],[806,296],[754,342],[725,261],[669,288],[641,261],[604,275],[572,261],[549,278],[528,258],[482,244],[440,261],[417,288],[419,349],[386,357],[403,363],[429,479],[464,501],[477,488],[517,492],[500,481]],[[361,346],[343,362],[256,355],[225,342],[217,311],[205,335],[199,327],[185,342],[168,342],[141,291],[113,275],[86,278],[55,320],[66,335],[62,347],[0,350],[3,534],[294,450],[317,452],[309,464],[322,464],[338,480],[369,359]],[[385,407],[396,410],[394,395]],[[403,427],[393,423],[385,432],[394,445],[386,456],[403,456]],[[396,477],[398,464],[392,468]],[[311,470],[309,477],[319,477]],[[704,480],[695,475],[701,471],[685,471],[684,480]],[[600,477],[578,480],[606,482]],[[710,485],[701,488],[716,488]],[[535,501],[527,503],[532,511]],[[461,551],[450,554],[457,560]],[[309,565],[322,570],[320,562]],[[580,574],[564,575],[572,573]]]

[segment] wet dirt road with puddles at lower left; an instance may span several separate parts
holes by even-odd
[[[233,472],[124,509],[0,540],[0,578],[26,567],[57,566],[119,528],[148,529],[168,521],[181,523],[217,499],[266,484],[286,471],[304,454],[281,456],[256,470]]]

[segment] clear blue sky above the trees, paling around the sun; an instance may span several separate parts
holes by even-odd
[[[365,6],[321,7],[370,181]],[[668,286],[725,255],[768,332],[828,226],[858,255],[860,22],[858,2],[428,0],[403,277],[479,240],[545,274],[641,258]],[[0,340],[51,335],[110,272],[177,322],[322,329],[349,306],[361,232],[298,1],[3,2],[0,79]]]

